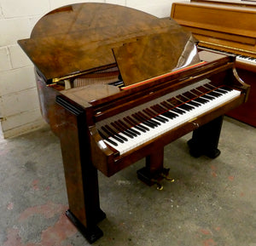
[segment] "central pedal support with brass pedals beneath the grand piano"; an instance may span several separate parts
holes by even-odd
[[[160,185],[160,180],[164,179],[169,174],[169,169],[163,167],[164,163],[164,148],[160,148],[154,153],[146,157],[146,167],[137,170],[137,177],[146,185],[157,185],[161,190],[163,186]]]

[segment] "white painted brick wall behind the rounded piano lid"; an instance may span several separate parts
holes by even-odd
[[[158,17],[171,13],[174,0],[90,0],[143,10]],[[23,134],[44,124],[32,62],[17,40],[30,37],[33,26],[46,13],[81,0],[0,0],[0,119],[4,137]],[[177,1],[176,1],[177,2]]]

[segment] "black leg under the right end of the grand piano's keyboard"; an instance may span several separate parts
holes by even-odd
[[[188,141],[191,156],[206,155],[210,158],[219,156],[218,140],[222,123],[223,116],[220,116],[194,130],[192,139]]]

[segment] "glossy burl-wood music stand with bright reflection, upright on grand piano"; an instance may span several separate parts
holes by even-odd
[[[114,48],[113,54],[125,86],[201,61],[195,38],[189,32],[172,28],[125,43]]]

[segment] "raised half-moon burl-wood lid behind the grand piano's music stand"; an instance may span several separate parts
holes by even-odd
[[[79,3],[45,14],[34,26],[31,37],[18,43],[44,80],[54,83],[116,66],[113,48],[141,37],[149,41],[155,34],[163,36],[166,30],[180,31],[185,39],[188,37],[188,32],[174,20],[114,4]]]

